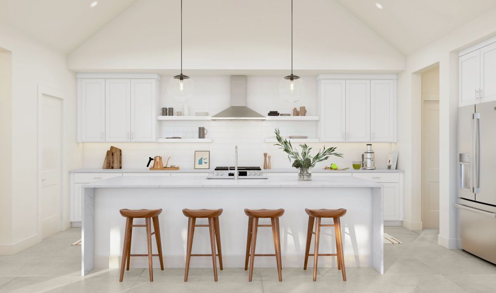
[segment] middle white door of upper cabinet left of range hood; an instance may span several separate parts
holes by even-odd
[[[130,80],[105,80],[105,141],[128,142],[131,127]]]

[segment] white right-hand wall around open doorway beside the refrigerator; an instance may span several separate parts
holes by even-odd
[[[407,68],[399,75],[400,153],[410,154],[398,162],[405,169],[404,225],[420,229],[421,222],[421,91],[420,71],[439,63],[439,244],[457,247],[457,137],[458,56],[460,49],[496,34],[496,9],[474,19],[429,46],[407,57]]]

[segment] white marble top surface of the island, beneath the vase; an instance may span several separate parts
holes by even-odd
[[[205,176],[188,177],[114,177],[83,185],[92,188],[284,188],[284,187],[382,187],[382,184],[353,176],[314,177],[299,181],[287,176],[268,179],[206,179]]]

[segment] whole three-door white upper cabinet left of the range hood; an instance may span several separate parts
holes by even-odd
[[[157,74],[78,73],[78,142],[155,142]]]

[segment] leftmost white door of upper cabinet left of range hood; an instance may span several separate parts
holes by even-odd
[[[80,119],[77,141],[105,141],[105,79],[82,79],[78,104]]]

